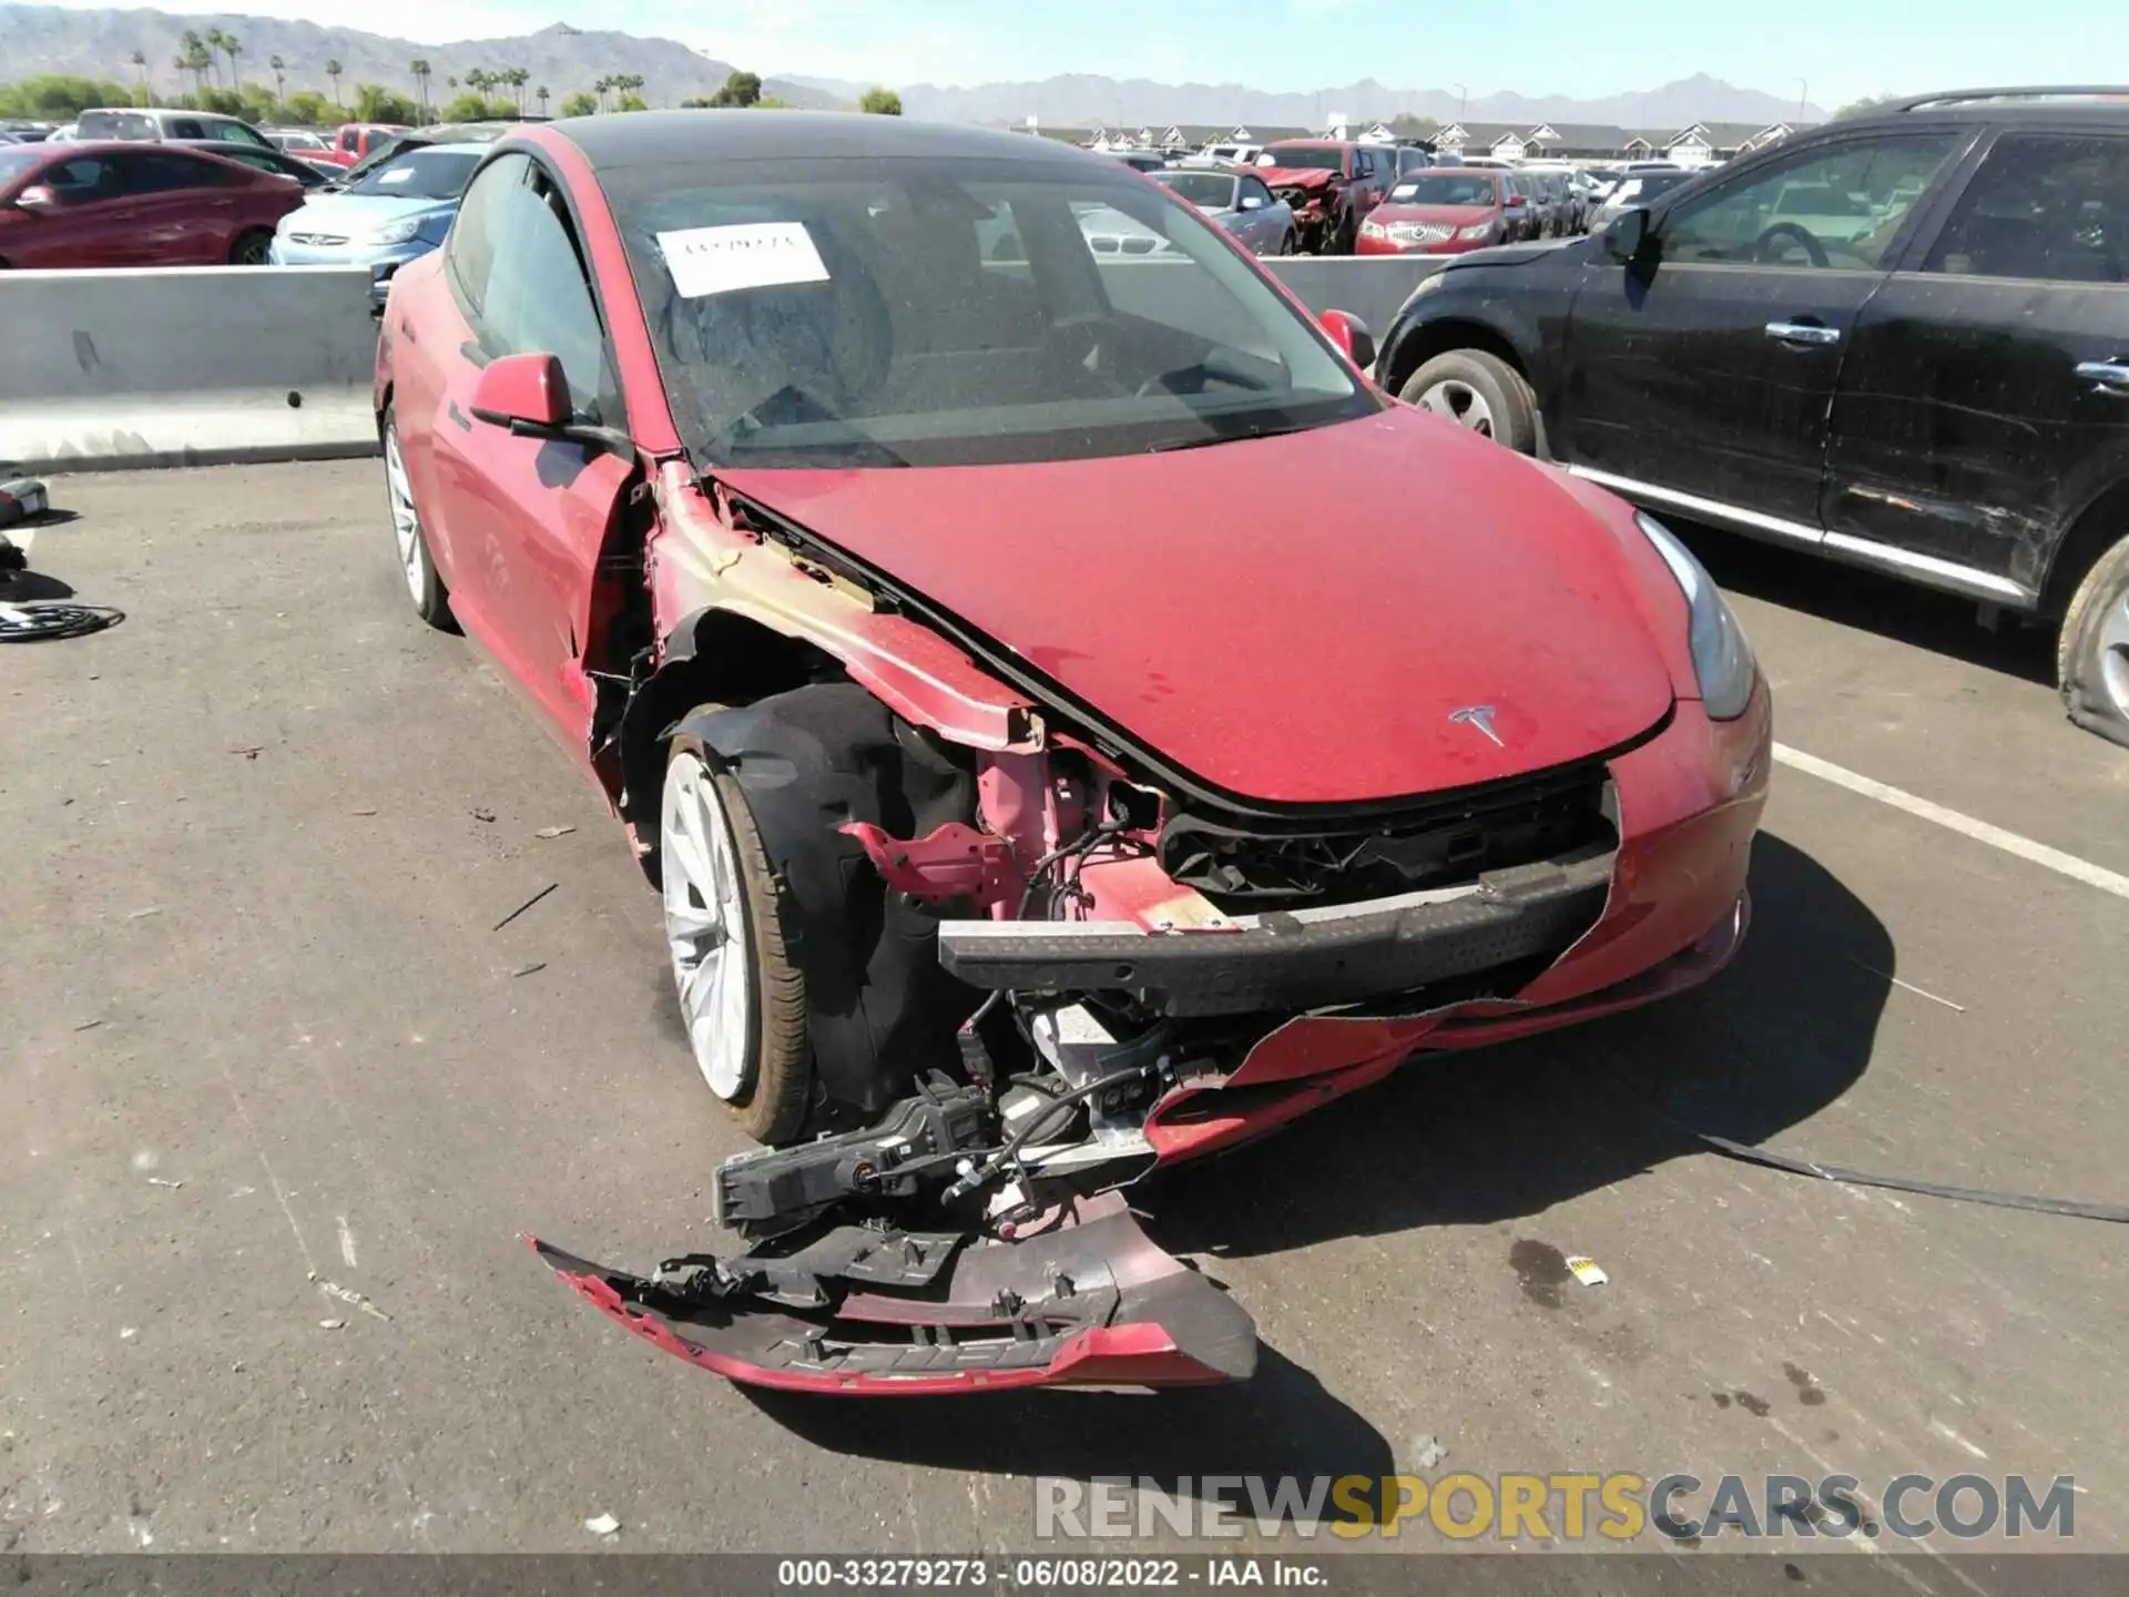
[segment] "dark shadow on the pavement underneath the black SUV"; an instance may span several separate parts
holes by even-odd
[[[2006,615],[1991,632],[1976,620],[1971,598],[1690,522],[1673,526],[1724,592],[1878,632],[2020,681],[2054,686],[2054,630],[2048,626],[2027,626],[2016,615]]]

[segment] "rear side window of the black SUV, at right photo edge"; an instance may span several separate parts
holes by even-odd
[[[2129,138],[2006,134],[1922,262],[1952,277],[2123,283]]]

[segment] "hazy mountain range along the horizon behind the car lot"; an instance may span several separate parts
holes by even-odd
[[[468,38],[447,45],[417,45],[407,38],[328,28],[313,21],[279,17],[247,17],[241,13],[166,11],[72,11],[60,6],[0,4],[0,77],[23,79],[38,72],[70,72],[77,77],[109,77],[132,83],[138,68],[130,66],[138,49],[147,55],[151,85],[183,83],[170,60],[179,53],[183,32],[207,34],[219,28],[241,40],[238,68],[247,81],[270,81],[270,57],[279,55],[287,89],[330,89],[326,62],[336,60],[341,94],[358,83],[381,83],[398,92],[413,89],[409,64],[430,62],[430,98],[443,100],[447,79],[471,70],[502,70],[524,66],[532,83],[545,83],[560,100],[613,72],[643,79],[643,98],[651,104],[677,104],[683,98],[711,94],[732,72],[720,62],[675,38],[639,38],[634,34],[556,23],[537,34],[513,38]],[[226,66],[226,62],[224,62]],[[762,72],[762,92],[798,106],[856,104],[867,85],[839,79],[769,75],[762,62],[743,62]],[[1039,83],[937,85],[909,83],[901,89],[903,109],[911,117],[937,121],[988,121],[1022,126],[1030,115],[1054,128],[1179,124],[1262,124],[1322,128],[1337,113],[1352,119],[1394,117],[1412,113],[1437,121],[1597,121],[1620,128],[1684,128],[1693,121],[1818,121],[1825,111],[1784,100],[1756,89],[1739,89],[1707,75],[1665,83],[1637,94],[1612,94],[1578,100],[1571,96],[1486,94],[1460,100],[1446,89],[1397,89],[1360,79],[1343,87],[1307,94],[1275,94],[1241,83],[1154,83],[1150,79],[1109,79],[1096,75],[1050,77]]]

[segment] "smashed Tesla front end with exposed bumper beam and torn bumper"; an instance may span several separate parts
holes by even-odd
[[[1720,860],[1673,835],[1705,794],[1671,781],[1637,828],[1622,818],[1618,771],[1671,713],[1624,747],[1467,788],[1252,805],[867,596],[758,507],[715,509],[690,515],[720,581],[743,575],[752,618],[843,666],[658,728],[711,750],[752,805],[807,979],[813,1135],[720,1167],[739,1252],[632,1275],[534,1246],[594,1307],[730,1380],[924,1395],[1248,1378],[1248,1314],[1145,1237],[1126,1188],[1382,1080],[1437,1031],[1467,1046],[1661,960],[1673,984],[1701,979],[1742,933],[1735,828]],[[1633,884],[1686,845],[1714,907],[1673,926]],[[1614,905],[1633,924],[1599,937]],[[1733,931],[1707,933],[1722,913]],[[1665,945],[1618,954],[1635,937]],[[1665,990],[1618,986],[1618,1003]]]

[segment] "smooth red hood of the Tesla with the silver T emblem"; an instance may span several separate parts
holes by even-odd
[[[1252,798],[1490,781],[1671,703],[1614,537],[1546,468],[1405,407],[1113,460],[720,475]],[[1450,720],[1473,705],[1499,745]]]

